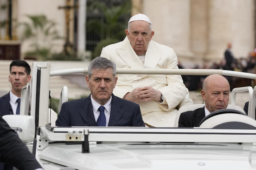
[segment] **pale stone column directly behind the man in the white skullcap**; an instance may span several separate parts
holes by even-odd
[[[143,13],[152,22],[152,40],[174,48],[178,58],[191,58],[190,0],[143,1]]]

